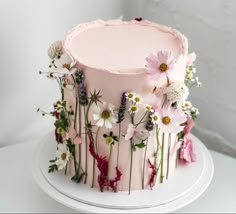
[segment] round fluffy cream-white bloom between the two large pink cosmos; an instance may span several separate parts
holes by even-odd
[[[184,101],[189,95],[189,89],[183,82],[173,82],[167,88],[167,100],[171,103]]]

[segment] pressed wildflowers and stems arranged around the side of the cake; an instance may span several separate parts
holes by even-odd
[[[199,111],[187,100],[189,89],[192,86],[200,87],[198,77],[195,77],[196,69],[194,53],[188,56],[186,76],[184,82],[172,82],[169,75],[176,72],[177,59],[169,51],[158,51],[146,58],[146,75],[153,82],[153,90],[150,93],[162,100],[161,105],[143,103],[143,98],[135,91],[124,91],[120,97],[120,106],[107,103],[99,89],[87,91],[85,79],[86,73],[79,69],[73,58],[68,55],[61,41],[53,43],[48,50],[50,57],[49,71],[41,72],[49,79],[58,82],[61,91],[61,100],[53,105],[53,111],[47,113],[38,109],[43,115],[51,115],[55,118],[55,139],[57,151],[55,158],[50,160],[49,173],[64,170],[68,174],[73,167],[74,175],[71,180],[77,183],[87,183],[88,156],[93,157],[93,179],[91,187],[97,180],[100,191],[118,191],[119,181],[122,179],[122,170],[119,168],[120,143],[125,140],[130,144],[130,170],[129,193],[132,186],[133,157],[137,150],[144,151],[142,163],[142,189],[145,189],[145,173],[149,168],[149,188],[152,189],[159,175],[160,183],[169,176],[170,142],[173,134],[177,149],[176,167],[178,163],[190,163],[196,160],[190,131],[194,125]],[[166,79],[166,86],[159,87],[156,82],[160,78]],[[65,89],[70,88],[75,97],[75,107],[69,106],[65,100]],[[108,100],[109,101],[109,100]],[[142,114],[141,119],[136,115]],[[92,115],[92,118],[89,117]],[[128,115],[128,118],[127,118]],[[129,120],[125,133],[122,133],[122,122]],[[78,122],[78,126],[76,123]],[[118,126],[118,132],[113,131],[113,126]],[[107,132],[101,133],[101,128]],[[149,146],[149,136],[156,136],[156,151],[153,160],[146,157]],[[109,154],[102,156],[98,144],[98,136],[102,135],[104,143],[109,148]],[[168,142],[165,142],[168,139]],[[81,145],[85,144],[85,151]],[[167,165],[164,166],[164,144],[167,144]],[[113,148],[117,147],[117,154]],[[85,152],[85,166],[82,166],[82,152]],[[110,159],[116,155],[115,177],[109,177],[111,170]],[[95,169],[99,175],[95,177]],[[167,167],[164,174],[164,167]]]

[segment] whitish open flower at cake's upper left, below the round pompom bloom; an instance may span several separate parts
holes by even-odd
[[[64,53],[59,59],[55,60],[56,68],[52,71],[54,76],[63,77],[65,75],[72,75],[77,69],[75,61],[67,54]]]

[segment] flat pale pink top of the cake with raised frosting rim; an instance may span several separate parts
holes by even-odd
[[[138,72],[150,53],[168,50],[177,58],[187,53],[187,39],[178,31],[143,21],[121,20],[80,24],[69,32],[64,47],[81,64],[113,72]]]

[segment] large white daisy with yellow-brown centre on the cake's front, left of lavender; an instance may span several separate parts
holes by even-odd
[[[113,105],[103,105],[103,107],[94,106],[93,119],[98,120],[96,125],[102,127],[105,125],[107,129],[112,128],[112,124],[116,123],[117,118],[113,111]]]

